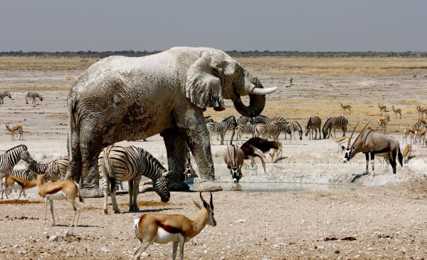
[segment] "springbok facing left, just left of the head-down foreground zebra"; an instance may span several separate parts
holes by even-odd
[[[70,227],[73,227],[73,225],[74,227],[77,227],[78,219],[80,218],[80,206],[77,204],[77,202],[75,202],[75,197],[78,197],[79,201],[83,202],[78,184],[73,182],[72,180],[63,180],[59,182],[44,182],[43,179],[44,175],[37,175],[37,194],[44,198],[46,206],[43,227],[46,224],[46,215],[48,214],[48,203],[51,205],[52,226],[55,226],[55,217],[53,217],[53,200],[63,199],[66,199],[68,202],[71,203],[71,205],[73,205],[74,217],[73,222],[71,222],[70,224]]]

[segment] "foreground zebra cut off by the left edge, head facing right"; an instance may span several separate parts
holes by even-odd
[[[18,145],[0,155],[0,180],[12,172],[19,160],[33,162],[26,145]],[[3,182],[0,182],[0,190],[3,190]],[[1,199],[3,199],[3,194],[1,194]]]

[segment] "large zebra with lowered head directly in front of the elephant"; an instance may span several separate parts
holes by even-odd
[[[105,147],[98,157],[98,170],[104,190],[103,209],[105,214],[108,213],[108,194],[111,196],[114,212],[120,213],[115,199],[115,191],[122,181],[128,181],[129,184],[129,212],[139,211],[137,195],[142,176],[153,181],[154,191],[159,194],[162,202],[169,201],[170,192],[167,177],[171,171],[167,171],[156,158],[140,147],[118,145]]]

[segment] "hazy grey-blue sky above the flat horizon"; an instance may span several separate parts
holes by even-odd
[[[0,51],[427,51],[427,1],[1,1]]]

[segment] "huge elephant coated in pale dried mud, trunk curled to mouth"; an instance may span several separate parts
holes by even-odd
[[[80,182],[84,197],[102,197],[96,177],[102,149],[159,133],[172,170],[171,190],[189,189],[182,175],[186,145],[201,179],[214,185],[204,110],[224,110],[225,98],[233,101],[238,113],[252,118],[263,111],[265,95],[276,89],[263,88],[240,63],[214,48],[174,47],[143,57],[103,58],[70,90],[66,178]],[[243,95],[249,95],[248,105],[242,102]],[[222,189],[218,184],[216,188]]]

